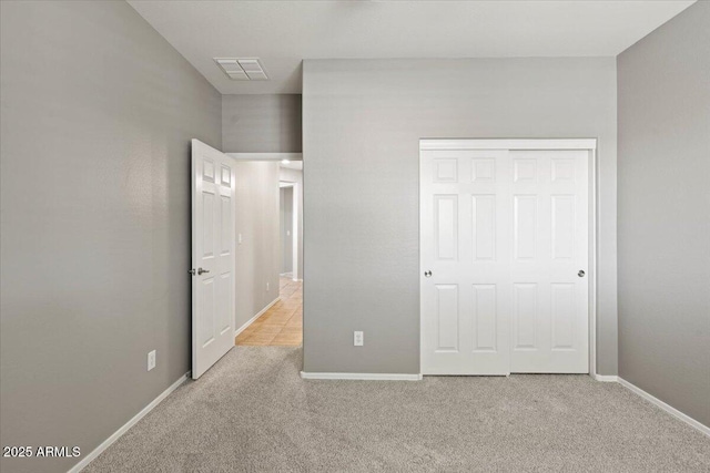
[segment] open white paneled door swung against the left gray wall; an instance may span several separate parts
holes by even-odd
[[[234,347],[234,165],[192,141],[192,379]]]

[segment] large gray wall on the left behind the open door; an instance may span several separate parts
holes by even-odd
[[[190,140],[221,145],[221,96],[124,2],[0,8],[0,443],[85,455],[190,370]]]

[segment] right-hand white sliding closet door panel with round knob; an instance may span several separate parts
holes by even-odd
[[[510,151],[511,372],[589,371],[587,155]]]

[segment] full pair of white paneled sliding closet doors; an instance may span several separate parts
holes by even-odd
[[[587,156],[422,151],[424,374],[588,372]]]

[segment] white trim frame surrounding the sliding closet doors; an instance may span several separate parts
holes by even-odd
[[[598,222],[598,174],[597,174],[597,140],[596,138],[427,138],[419,140],[419,162],[423,151],[429,150],[585,150],[589,162],[589,376],[600,379],[597,374],[597,222]],[[422,192],[422,176],[419,176],[419,193]],[[420,212],[420,209],[419,209]],[[419,248],[422,248],[422,233],[419,232]],[[419,274],[424,271],[422,251],[419,251]],[[424,310],[422,295],[419,295],[419,366],[422,366],[424,347]]]

